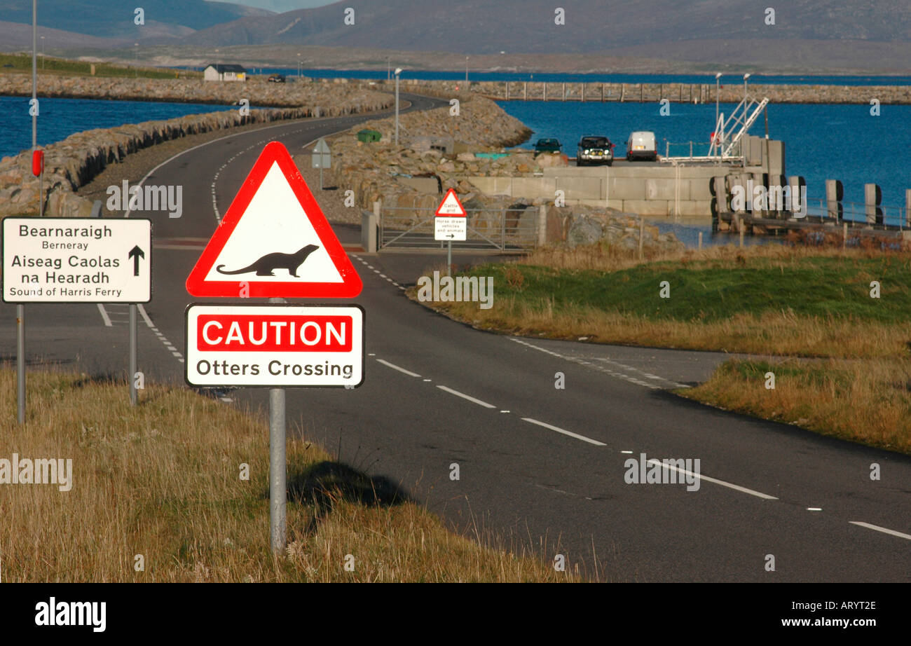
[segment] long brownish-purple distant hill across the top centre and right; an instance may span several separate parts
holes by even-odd
[[[566,9],[556,25],[555,5]],[[765,7],[776,6],[775,24]],[[343,23],[353,6],[353,26]],[[343,0],[246,17],[191,36],[197,46],[301,44],[465,54],[585,53],[701,40],[911,41],[908,0]]]

